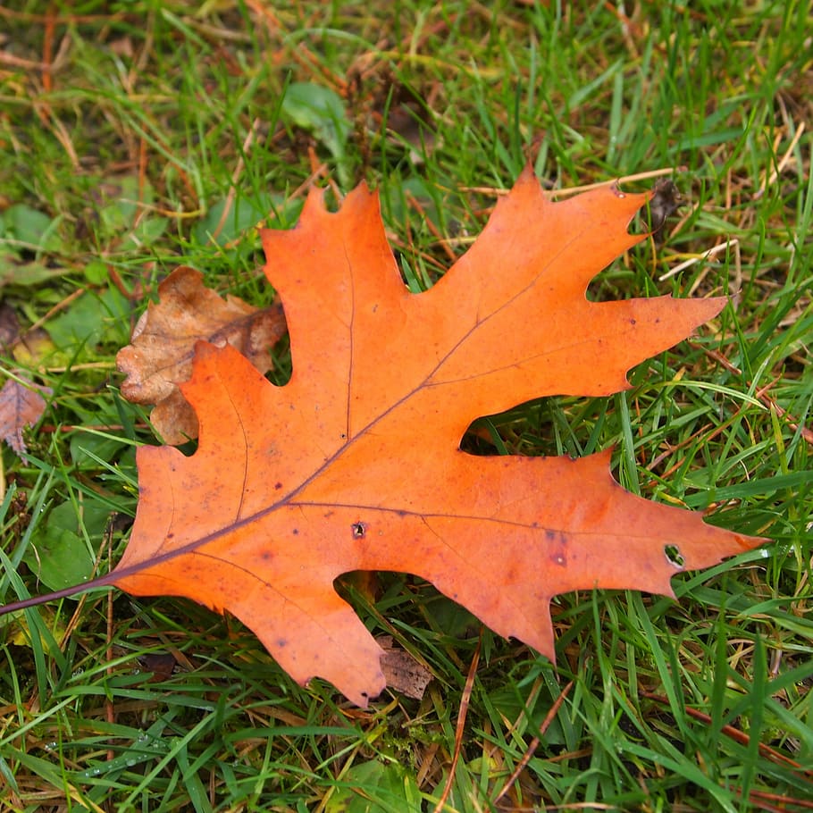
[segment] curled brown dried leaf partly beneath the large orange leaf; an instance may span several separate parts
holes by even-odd
[[[155,404],[150,415],[155,432],[177,445],[197,438],[197,417],[177,386],[192,373],[195,342],[228,343],[266,373],[272,368],[271,348],[285,334],[285,317],[278,305],[260,310],[237,297],[222,299],[205,288],[203,274],[183,265],[158,286],[158,298],[116,362],[127,375],[124,398]]]

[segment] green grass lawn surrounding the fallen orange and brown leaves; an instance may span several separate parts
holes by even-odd
[[[0,276],[28,331],[0,364],[53,390],[28,454],[2,450],[0,598],[46,589],[30,552],[54,536],[77,567],[118,560],[134,448],[155,437],[118,393],[117,349],[177,264],[268,302],[254,227],[296,222],[322,165],[342,191],[381,189],[413,289],[482,228],[482,188],[527,161],[550,189],[682,167],[665,243],[590,295],[726,293],[724,313],[635,369],[632,390],[516,407],[466,442],[614,445],[626,488],[773,540],[675,578],[676,602],[557,598],[556,669],[408,576],[382,574],[374,605],[348,586],[434,676],[423,700],[385,692],[364,711],[292,683],[233,619],[186,601],[96,592],[27,610],[0,630],[0,810],[430,811],[478,640],[445,810],[809,809],[813,20],[803,2],[640,4],[632,21],[610,5],[0,9]],[[151,678],[156,653],[172,674]]]

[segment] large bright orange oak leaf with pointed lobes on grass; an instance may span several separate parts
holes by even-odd
[[[551,203],[526,170],[465,256],[412,294],[378,197],[359,187],[331,214],[311,192],[294,229],[263,232],[290,381],[274,386],[233,348],[197,344],[180,385],[197,451],[138,449],[130,545],[96,584],[228,610],[296,680],[320,675],[365,705],[385,685],[381,648],[334,590],[340,574],[417,574],[553,658],[557,593],[672,594],[684,568],[759,544],[623,490],[607,451],[459,448],[478,416],[624,390],[627,370],[722,308],[588,301],[591,278],[641,239],[626,227],[645,199],[603,188]]]

